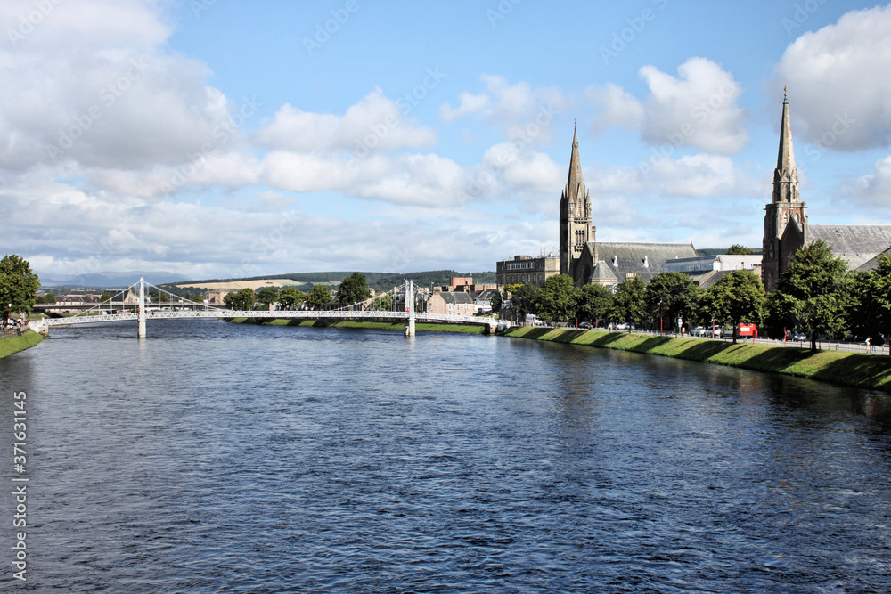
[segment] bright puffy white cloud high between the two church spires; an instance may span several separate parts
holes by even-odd
[[[643,101],[617,85],[588,89],[589,100],[600,110],[593,132],[624,126],[651,145],[670,143],[721,155],[741,151],[748,142],[745,111],[737,104],[742,86],[705,58],[691,58],[677,70],[679,77],[654,66],[640,69],[650,88]]]

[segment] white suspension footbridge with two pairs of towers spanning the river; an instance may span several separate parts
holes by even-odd
[[[156,289],[160,294],[167,294],[176,301],[168,302],[170,306],[167,309],[159,307],[157,309],[148,309],[146,307],[145,289],[150,287]],[[145,322],[148,320],[188,320],[196,318],[212,318],[212,319],[229,319],[229,318],[253,318],[253,319],[269,319],[269,320],[331,320],[331,321],[403,321],[405,323],[405,336],[414,336],[415,325],[417,322],[430,323],[446,323],[446,324],[465,324],[465,325],[484,325],[488,327],[490,334],[495,332],[498,323],[494,318],[480,318],[472,315],[457,315],[451,313],[426,313],[415,312],[414,304],[414,281],[406,281],[402,286],[396,287],[389,291],[386,295],[394,297],[396,294],[405,295],[405,311],[389,311],[382,309],[371,309],[368,300],[358,302],[351,305],[345,305],[337,309],[330,310],[236,310],[222,307],[214,307],[204,303],[198,303],[189,299],[184,299],[145,282],[143,279],[124,289],[123,294],[127,294],[130,289],[138,288],[138,302],[135,312],[122,311],[121,313],[103,313],[103,307],[108,307],[110,299],[96,305],[94,308],[86,310],[67,318],[45,318],[39,321],[32,321],[31,327],[42,333],[48,333],[52,326],[72,326],[81,324],[96,324],[109,321],[136,321],[137,336],[145,338]],[[387,300],[378,298],[372,301],[374,303],[386,303]],[[160,305],[160,304],[159,304]],[[124,309],[126,306],[121,305]]]

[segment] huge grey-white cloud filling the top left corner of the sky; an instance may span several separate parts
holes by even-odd
[[[0,29],[18,32],[20,12]],[[73,161],[87,167],[176,163],[217,142],[230,120],[207,67],[168,53],[158,3],[83,0],[52,10],[29,34],[0,45],[0,167]],[[113,26],[110,24],[113,23]],[[13,43],[14,42],[14,43]]]

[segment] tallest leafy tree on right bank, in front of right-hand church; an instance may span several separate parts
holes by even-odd
[[[799,249],[777,283],[777,291],[788,298],[775,297],[774,316],[794,317],[798,328],[811,336],[811,348],[817,347],[818,334],[834,334],[845,327],[850,300],[847,264],[832,257],[823,240]]]

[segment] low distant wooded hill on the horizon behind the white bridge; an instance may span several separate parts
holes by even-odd
[[[290,274],[264,274],[263,276],[251,276],[240,279],[207,279],[203,281],[189,281],[188,283],[176,283],[176,284],[167,284],[161,285],[164,289],[169,290],[171,293],[175,293],[176,295],[185,296],[188,294],[192,294],[199,289],[188,289],[184,287],[178,287],[176,285],[183,284],[203,284],[209,282],[232,282],[238,283],[242,281],[259,281],[263,279],[289,279],[290,281],[296,281],[298,284],[296,286],[297,289],[301,291],[308,292],[313,288],[313,285],[319,283],[329,283],[333,285],[337,285],[340,282],[344,281],[347,277],[349,277],[352,272],[328,272],[328,273],[290,273]],[[454,270],[431,270],[427,272],[421,273],[361,273],[364,275],[365,279],[368,281],[368,286],[373,289],[378,289],[382,291],[388,291],[389,289],[393,289],[398,285],[401,285],[403,281],[414,281],[414,284],[419,287],[429,287],[433,286],[442,286],[448,284],[448,280],[450,277],[460,276],[473,277],[473,281],[478,284],[495,284],[495,273],[494,272],[482,272],[482,273],[457,273]]]

